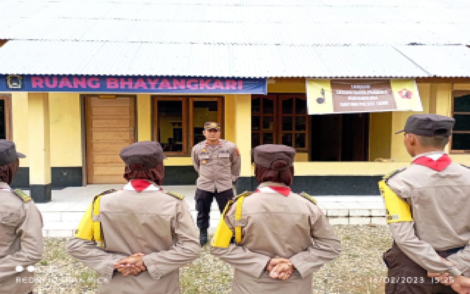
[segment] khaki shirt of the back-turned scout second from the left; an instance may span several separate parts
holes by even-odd
[[[184,199],[163,191],[126,191],[103,195],[100,216],[104,248],[72,238],[68,252],[96,270],[99,294],[179,294],[179,268],[200,253],[196,225]],[[146,271],[137,276],[113,272],[114,263],[135,253]]]

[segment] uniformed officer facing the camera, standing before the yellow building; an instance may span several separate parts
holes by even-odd
[[[193,147],[191,157],[199,177],[196,182],[197,227],[201,246],[207,243],[212,200],[222,213],[234,196],[233,182],[240,175],[240,153],[235,144],[220,139],[220,124],[204,124],[205,141]]]

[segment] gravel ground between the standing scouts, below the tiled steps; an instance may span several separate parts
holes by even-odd
[[[392,245],[387,226],[336,225],[343,252],[314,274],[314,294],[382,294],[386,268],[382,253]],[[67,238],[46,238],[44,259],[37,264],[34,293],[94,294],[99,280],[93,270],[65,252]],[[180,271],[184,294],[230,292],[232,268],[212,257],[208,247]]]

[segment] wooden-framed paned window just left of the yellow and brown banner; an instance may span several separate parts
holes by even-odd
[[[308,151],[309,124],[305,94],[253,95],[251,145],[284,144]]]

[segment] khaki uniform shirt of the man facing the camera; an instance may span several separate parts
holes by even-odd
[[[203,141],[193,147],[191,158],[199,174],[196,187],[200,190],[222,192],[232,189],[240,175],[240,154],[232,142],[219,140],[219,144],[211,146]]]

